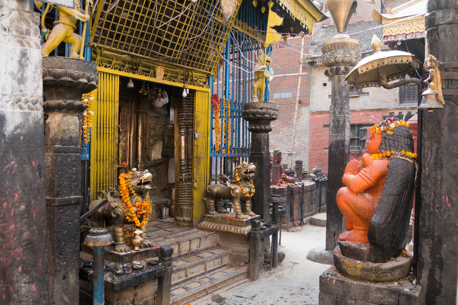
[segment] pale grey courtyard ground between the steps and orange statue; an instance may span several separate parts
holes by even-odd
[[[326,244],[326,227],[304,225],[297,232],[282,231],[286,256],[278,268],[264,270],[256,282],[196,300],[192,305],[318,305],[319,276],[330,267],[307,259],[312,248]]]

